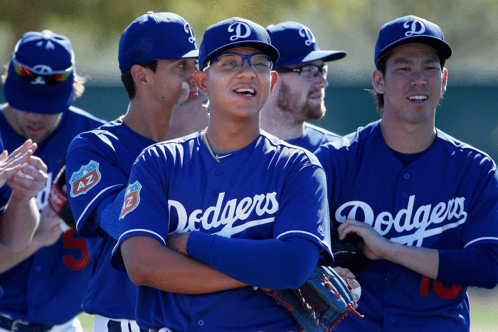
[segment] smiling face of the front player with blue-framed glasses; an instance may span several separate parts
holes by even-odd
[[[253,55],[261,52],[253,48],[232,48],[225,53]],[[254,62],[255,67],[257,64]],[[277,73],[254,67],[249,65],[248,60],[244,60],[240,68],[223,66],[223,63],[215,61],[206,71],[194,74],[199,89],[209,97],[213,117],[259,119],[259,112],[277,80]]]

